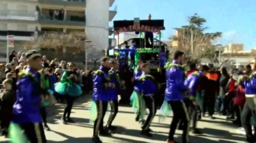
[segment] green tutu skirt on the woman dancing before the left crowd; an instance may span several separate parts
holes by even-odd
[[[70,85],[67,82],[57,83],[55,85],[54,89],[60,95],[80,96],[83,93],[83,91],[82,91],[81,87],[79,87],[79,85],[77,85],[77,84]]]

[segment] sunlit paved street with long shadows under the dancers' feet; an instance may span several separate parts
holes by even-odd
[[[64,105],[56,105],[57,109],[51,108],[48,118],[51,131],[46,131],[48,142],[67,142],[67,143],[90,143],[92,137],[92,125],[89,124],[89,106],[90,101],[80,99],[73,107],[72,117],[76,124],[63,125],[60,118]],[[154,118],[151,129],[154,131],[153,138],[145,138],[140,135],[140,125],[134,121],[134,114],[129,107],[120,107],[119,113],[113,123],[118,127],[116,134],[112,137],[102,137],[102,141],[106,143],[122,142],[122,143],[161,143],[167,139],[169,124],[171,118],[158,122],[158,116]],[[59,114],[57,114],[59,113]],[[108,117],[108,113],[106,117]],[[226,122],[224,117],[215,116],[218,119],[209,121],[203,118],[198,122],[198,127],[205,133],[201,136],[190,135],[192,143],[231,143],[244,142],[244,137],[236,133],[236,127],[231,122]],[[106,118],[107,119],[107,118]],[[106,122],[105,119],[105,122]],[[177,140],[180,141],[181,131],[176,132]],[[7,139],[0,138],[0,142],[7,142]]]

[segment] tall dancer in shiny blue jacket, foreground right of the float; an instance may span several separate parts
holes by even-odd
[[[186,105],[184,104],[185,92],[190,89],[184,85],[186,75],[184,73],[183,52],[174,52],[174,61],[170,64],[166,70],[166,92],[164,100],[168,102],[173,111],[173,121],[171,121],[170,132],[168,135],[168,143],[176,143],[174,141],[174,134],[179,124],[179,121],[183,121],[184,129],[182,134],[182,143],[189,142],[189,113]]]

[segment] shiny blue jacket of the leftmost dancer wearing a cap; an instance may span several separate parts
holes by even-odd
[[[28,75],[20,75],[17,81],[17,101],[14,104],[13,122],[41,123],[41,87],[40,74],[31,68],[25,70]]]

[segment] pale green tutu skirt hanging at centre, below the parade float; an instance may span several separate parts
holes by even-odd
[[[135,114],[140,115],[140,119],[144,119],[146,111],[146,104],[143,99],[143,95],[138,95],[137,92],[132,92],[130,97],[132,109],[134,110]]]

